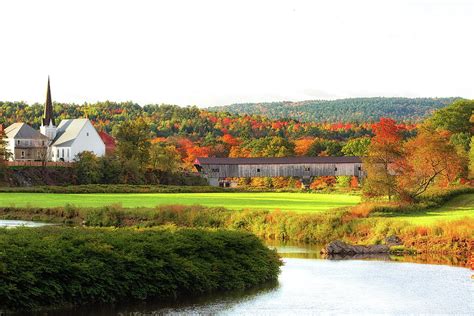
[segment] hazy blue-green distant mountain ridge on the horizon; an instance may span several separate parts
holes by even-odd
[[[208,108],[238,114],[263,115],[270,119],[302,122],[373,122],[381,117],[417,122],[434,110],[460,99],[451,98],[349,98],[338,100],[236,103]]]

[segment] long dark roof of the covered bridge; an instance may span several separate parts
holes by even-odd
[[[280,157],[280,158],[215,158],[198,157],[196,165],[265,165],[312,163],[361,163],[360,157]]]

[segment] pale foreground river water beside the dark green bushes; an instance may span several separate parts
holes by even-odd
[[[278,285],[179,302],[146,302],[38,315],[470,314],[465,268],[390,261],[284,259]]]

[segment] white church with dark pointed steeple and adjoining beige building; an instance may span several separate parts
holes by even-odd
[[[72,162],[84,151],[98,157],[105,155],[105,144],[89,119],[62,120],[56,126],[49,78],[41,123],[39,131],[25,123],[5,129],[10,160]]]

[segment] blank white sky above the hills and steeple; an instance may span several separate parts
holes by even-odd
[[[0,0],[0,101],[474,98],[473,35],[473,0]]]

